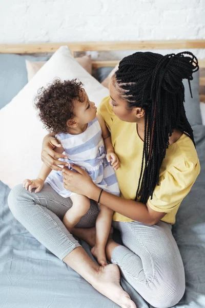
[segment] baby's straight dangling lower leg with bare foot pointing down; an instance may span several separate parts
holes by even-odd
[[[100,204],[100,213],[96,220],[96,240],[91,253],[97,259],[99,265],[107,265],[105,247],[110,234],[113,210]]]

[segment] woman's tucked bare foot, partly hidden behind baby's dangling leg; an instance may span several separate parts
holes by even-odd
[[[84,240],[86,243],[88,243],[89,246],[94,247],[95,246],[95,238],[96,238],[96,229],[93,228],[73,228],[72,234],[76,235],[80,239]],[[109,238],[112,238],[113,234],[113,227],[110,229]]]

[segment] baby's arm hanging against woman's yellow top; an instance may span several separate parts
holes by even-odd
[[[117,155],[114,152],[114,148],[113,148],[111,136],[110,136],[110,131],[108,130],[103,117],[100,114],[97,114],[96,117],[101,126],[102,137],[104,139],[106,152],[107,152],[107,160],[108,162],[111,162],[112,167],[115,170],[117,170],[120,167],[120,162],[119,162]]]

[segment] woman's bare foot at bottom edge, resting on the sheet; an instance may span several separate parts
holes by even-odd
[[[116,264],[100,266],[96,278],[91,283],[101,294],[105,295],[122,308],[136,308],[135,303],[119,284],[120,273]]]

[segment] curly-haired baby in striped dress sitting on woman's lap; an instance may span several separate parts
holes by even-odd
[[[119,196],[119,187],[115,170],[120,166],[114,153],[110,132],[101,117],[96,114],[97,108],[89,101],[81,82],[76,80],[60,81],[56,79],[47,88],[40,89],[36,97],[36,109],[44,126],[56,133],[62,147],[56,148],[68,158],[67,167],[76,164],[85,169],[93,182],[105,191]],[[107,154],[106,154],[107,152]],[[111,162],[111,164],[110,164]],[[23,186],[29,191],[36,188],[39,192],[46,181],[62,197],[70,197],[72,207],[63,218],[63,223],[72,232],[72,228],[83,217],[89,207],[90,200],[86,196],[77,195],[64,188],[61,171],[55,171],[43,164],[35,180],[26,179]],[[113,211],[100,206],[96,220],[96,242],[91,252],[100,265],[107,265],[105,246],[110,233]]]

